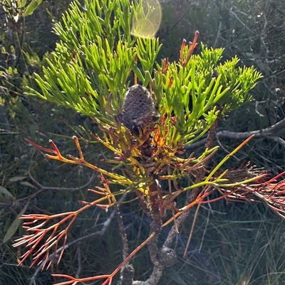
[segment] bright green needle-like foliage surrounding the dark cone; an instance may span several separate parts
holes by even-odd
[[[151,13],[152,9],[149,7]],[[221,63],[222,49],[204,48],[182,65],[157,63],[158,38],[131,36],[131,21],[142,10],[142,1],[74,1],[56,23],[58,42],[44,77],[36,75],[41,92],[36,95],[80,114],[105,127],[115,127],[125,92],[134,77],[155,93],[160,134],[165,141],[187,145],[207,133],[219,114],[250,100],[248,95],[261,75],[253,68],[237,68],[238,59]],[[148,15],[149,17],[149,15]],[[173,141],[174,139],[174,141]]]

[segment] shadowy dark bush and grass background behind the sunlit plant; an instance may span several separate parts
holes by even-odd
[[[120,259],[120,252],[116,252],[120,241],[106,242],[115,235],[115,227],[108,227],[104,239],[98,237],[68,249],[59,266],[54,264],[49,271],[40,273],[36,268],[16,267],[20,253],[12,249],[11,239],[4,240],[9,231],[22,235],[19,224],[13,224],[22,210],[26,213],[73,210],[78,207],[77,200],[88,200],[88,185],[95,185],[98,180],[86,168],[46,160],[24,142],[24,137],[37,137],[46,145],[52,138],[66,154],[72,154],[75,149],[71,136],[81,131],[78,125],[95,131],[88,117],[23,95],[26,85],[36,88],[33,72],[41,73],[48,53],[55,47],[56,36],[51,28],[55,21],[61,21],[61,13],[69,3],[43,1],[32,15],[19,15],[17,22],[7,11],[1,11],[0,284],[48,285],[53,282],[51,271],[81,276],[103,274],[111,271]],[[1,4],[3,8],[9,1]],[[162,8],[158,32],[163,43],[161,58],[177,59],[182,39],[189,41],[198,30],[204,44],[225,48],[224,59],[238,55],[242,65],[254,65],[264,75],[252,92],[256,101],[234,112],[220,131],[254,131],[282,122],[284,1],[171,0],[163,2]],[[7,20],[9,17],[11,21]],[[235,158],[236,166],[251,160],[272,173],[284,170],[283,129],[252,140]],[[234,137],[219,136],[217,143],[224,150],[219,153],[221,157],[240,142]],[[199,151],[200,146],[203,144],[191,146],[189,151]],[[86,160],[96,165],[105,155],[98,145],[86,145],[85,154]],[[229,167],[234,168],[234,163]],[[129,205],[123,211],[135,247],[147,235],[149,225],[136,206]],[[90,210],[73,227],[71,239],[92,232],[104,218],[100,210]],[[181,239],[187,239],[188,233],[189,227],[185,225]],[[180,258],[166,270],[160,284],[189,284],[190,280],[191,284],[282,284],[284,280],[284,222],[262,204],[221,202],[214,208],[206,206],[199,213],[192,244],[189,259]],[[112,254],[106,254],[107,251]],[[140,279],[147,275],[150,264],[147,254],[142,253],[135,259],[140,264],[140,271],[136,271]],[[110,256],[112,259],[108,260]]]

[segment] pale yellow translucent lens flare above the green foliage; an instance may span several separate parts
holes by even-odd
[[[160,27],[162,10],[158,0],[143,0],[135,11],[130,33],[140,38],[153,38]]]

